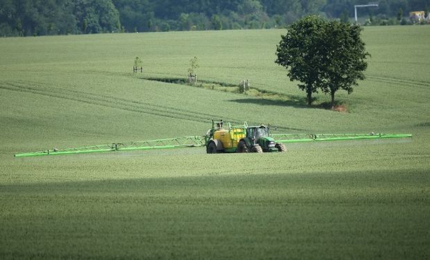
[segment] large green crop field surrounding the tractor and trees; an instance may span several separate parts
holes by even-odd
[[[430,26],[370,27],[366,80],[321,108],[275,64],[282,30],[0,39],[0,259],[429,259]],[[136,56],[144,73],[132,73]],[[251,96],[162,83],[198,78]],[[14,159],[204,135],[212,119],[278,132],[410,133],[291,144]]]

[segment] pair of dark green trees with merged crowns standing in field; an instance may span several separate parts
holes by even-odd
[[[311,105],[312,94],[329,93],[334,106],[338,89],[352,93],[357,80],[363,80],[367,69],[364,42],[360,26],[341,21],[326,21],[316,15],[304,17],[291,24],[277,45],[275,62],[285,67],[290,80],[298,80],[298,87],[307,92]]]

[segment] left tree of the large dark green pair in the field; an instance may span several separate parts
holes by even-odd
[[[308,105],[321,83],[324,27],[325,21],[320,17],[304,17],[289,26],[277,45],[275,62],[288,70],[291,81],[300,81],[298,87],[306,91]]]

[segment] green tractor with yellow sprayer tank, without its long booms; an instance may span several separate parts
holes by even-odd
[[[284,144],[275,143],[270,128],[265,125],[231,125],[212,121],[205,135],[207,153],[270,153],[285,152]]]

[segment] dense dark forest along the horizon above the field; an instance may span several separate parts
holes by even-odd
[[[354,17],[368,0],[0,0],[0,35],[275,28],[310,14]],[[395,24],[430,0],[380,0],[360,10],[374,23]],[[405,19],[403,19],[406,21]]]

